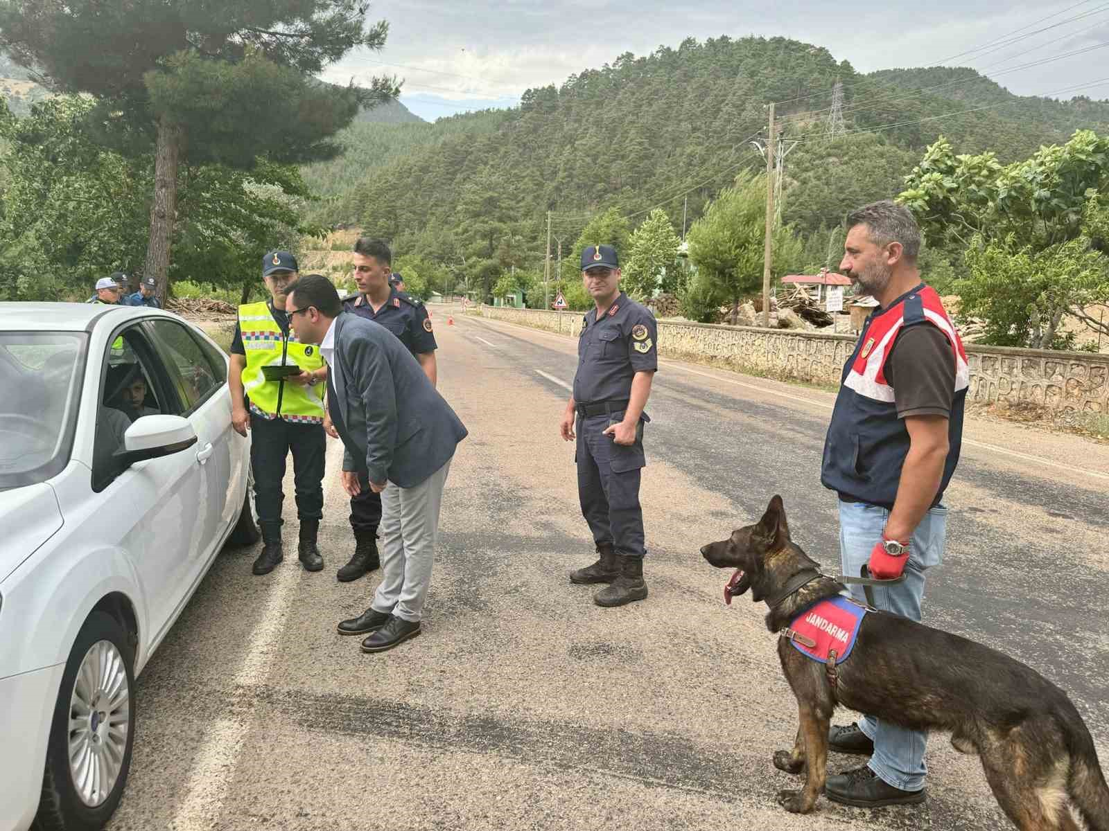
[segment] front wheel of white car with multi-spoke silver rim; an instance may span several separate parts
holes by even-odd
[[[89,615],[54,706],[37,817],[44,831],[100,829],[120,803],[134,742],[133,664],[119,622]]]

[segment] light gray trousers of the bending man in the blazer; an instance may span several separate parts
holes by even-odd
[[[377,612],[413,623],[424,614],[450,461],[414,488],[389,482],[381,491],[381,583],[370,604]]]

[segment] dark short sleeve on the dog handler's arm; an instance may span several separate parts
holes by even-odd
[[[955,400],[955,350],[938,328],[919,324],[898,332],[884,372],[894,388],[898,418],[950,418]]]

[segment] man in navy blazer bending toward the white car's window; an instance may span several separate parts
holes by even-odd
[[[327,361],[327,410],[343,440],[343,488],[381,494],[381,583],[340,635],[369,635],[363,652],[391,649],[420,633],[431,582],[439,506],[466,428],[393,332],[344,312],[318,274],[289,286],[285,312],[303,343]]]

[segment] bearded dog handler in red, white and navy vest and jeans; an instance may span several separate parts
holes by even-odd
[[[969,371],[939,295],[920,281],[913,215],[877,202],[847,217],[840,270],[881,306],[867,318],[843,371],[824,444],[821,482],[840,494],[845,575],[901,583],[874,587],[874,604],[920,619],[925,573],[943,560],[942,499],[958,463]],[[861,587],[851,588],[863,601]],[[828,799],[864,808],[923,802],[927,733],[871,716],[832,727],[828,746],[872,753],[828,777]]]

